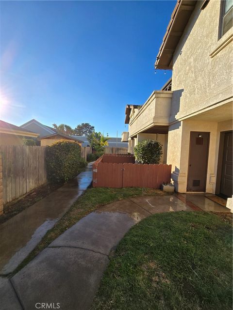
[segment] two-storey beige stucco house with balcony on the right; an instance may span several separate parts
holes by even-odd
[[[232,19],[232,1],[178,0],[155,62],[172,70],[171,90],[126,107],[129,148],[151,135],[164,140],[182,193],[232,197]]]

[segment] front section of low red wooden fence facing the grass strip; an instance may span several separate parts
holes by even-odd
[[[171,165],[102,162],[93,164],[93,187],[150,187],[160,188],[170,183]]]

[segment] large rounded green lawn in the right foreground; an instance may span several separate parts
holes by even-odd
[[[110,257],[91,309],[232,309],[231,225],[204,212],[145,218]]]

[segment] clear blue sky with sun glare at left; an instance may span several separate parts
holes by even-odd
[[[0,119],[127,131],[171,72],[153,64],[176,1],[1,1]]]

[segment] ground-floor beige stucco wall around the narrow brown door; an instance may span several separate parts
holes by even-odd
[[[232,120],[224,122],[198,122],[184,120],[180,126],[169,127],[167,163],[172,164],[172,180],[176,190],[186,192],[188,177],[189,142],[191,131],[210,132],[206,192],[215,193],[219,137],[221,131],[232,130]]]

